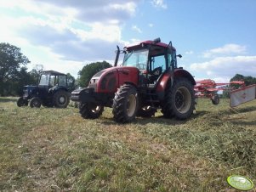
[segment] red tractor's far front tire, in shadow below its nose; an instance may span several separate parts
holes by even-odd
[[[78,104],[79,112],[85,119],[96,119],[102,115],[104,107],[93,103]]]

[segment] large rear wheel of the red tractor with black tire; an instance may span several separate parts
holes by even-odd
[[[191,116],[195,109],[195,93],[190,81],[177,78],[173,87],[168,86],[165,100],[162,104],[162,113],[165,117],[175,116],[184,120]]]

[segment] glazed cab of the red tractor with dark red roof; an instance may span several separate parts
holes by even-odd
[[[176,49],[172,47],[171,42],[167,45],[160,42],[160,39],[125,47],[123,51],[119,50],[119,53],[124,54],[122,66],[138,68],[139,82],[149,88],[156,88],[156,82],[163,73],[174,71],[177,68],[176,57],[181,57],[176,56]]]

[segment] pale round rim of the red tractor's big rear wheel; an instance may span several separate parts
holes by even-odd
[[[179,88],[175,93],[175,107],[180,113],[186,113],[191,107],[191,93],[185,87]]]

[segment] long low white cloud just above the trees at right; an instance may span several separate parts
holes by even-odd
[[[193,63],[191,72],[204,74],[206,78],[230,79],[236,73],[256,76],[256,56],[218,57],[207,62]]]

